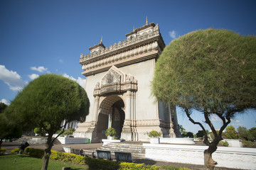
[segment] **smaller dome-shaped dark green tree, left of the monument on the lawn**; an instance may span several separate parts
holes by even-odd
[[[43,128],[48,133],[42,170],[47,169],[50,149],[58,137],[53,134],[63,128],[61,122],[85,121],[89,100],[82,87],[73,80],[55,74],[45,74],[31,81],[6,108],[6,113],[20,125]],[[65,126],[65,125],[64,125]],[[64,132],[64,130],[63,130]],[[61,132],[59,135],[61,135]]]

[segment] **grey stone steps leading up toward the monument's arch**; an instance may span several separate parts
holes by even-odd
[[[112,157],[114,157],[114,152],[131,152],[132,159],[145,158],[145,148],[142,146],[142,142],[109,143],[100,147],[99,150],[110,151]]]

